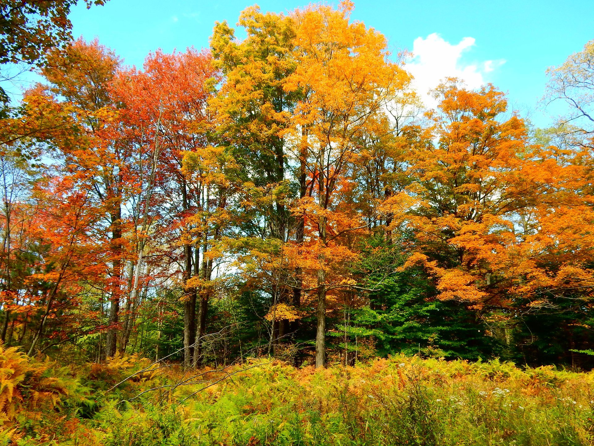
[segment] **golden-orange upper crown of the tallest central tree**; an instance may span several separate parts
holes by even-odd
[[[295,124],[307,125],[312,137],[320,144],[331,141],[331,147],[349,145],[347,129],[364,133],[377,125],[381,104],[410,81],[387,61],[385,37],[362,23],[349,23],[350,7],[343,6],[336,11],[315,5],[292,14],[296,68],[285,83],[288,92],[305,92],[296,106]]]

